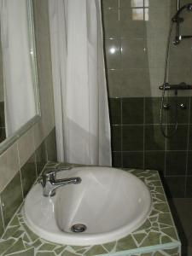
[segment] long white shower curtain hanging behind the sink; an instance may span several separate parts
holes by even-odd
[[[49,0],[58,160],[111,166],[99,0]]]

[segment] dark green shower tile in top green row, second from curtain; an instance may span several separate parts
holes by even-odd
[[[122,124],[143,125],[143,98],[122,99]]]

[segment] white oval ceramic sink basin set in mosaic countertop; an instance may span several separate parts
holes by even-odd
[[[37,183],[23,207],[28,227],[45,240],[76,246],[115,241],[136,230],[151,211],[148,188],[129,172],[76,167],[57,177],[82,182],[63,186],[52,197],[44,197]]]

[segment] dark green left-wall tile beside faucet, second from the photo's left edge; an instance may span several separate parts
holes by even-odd
[[[26,194],[29,192],[29,190],[32,188],[32,184],[35,182],[37,178],[34,154],[29,160],[27,160],[26,164],[21,167],[20,173],[21,173],[23,195],[25,197]]]

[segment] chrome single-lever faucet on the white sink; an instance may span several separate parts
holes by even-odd
[[[68,184],[79,184],[81,183],[80,177],[68,177],[63,179],[56,179],[56,173],[61,171],[70,170],[71,167],[56,167],[45,169],[43,174],[40,177],[40,183],[44,189],[44,196],[53,196],[55,195],[55,190],[61,186]]]

